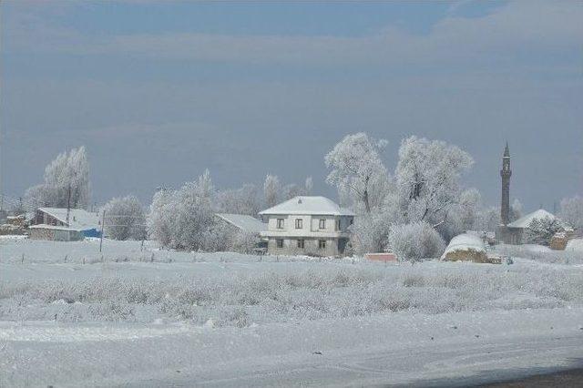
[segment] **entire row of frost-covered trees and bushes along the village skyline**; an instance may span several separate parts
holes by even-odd
[[[324,157],[327,183],[338,191],[341,204],[352,208],[353,250],[398,250],[402,257],[431,257],[463,230],[495,230],[499,209],[485,208],[477,189],[465,189],[462,177],[473,159],[444,141],[405,138],[393,171],[384,165],[385,140],[365,133],[348,135]],[[107,235],[118,240],[149,236],[160,244],[189,250],[249,250],[254,237],[234,233],[215,220],[216,212],[256,216],[297,195],[312,194],[312,178],[303,184],[282,184],[267,175],[263,186],[216,190],[209,171],[180,189],[159,189],[148,214],[135,196],[111,199],[105,206]],[[45,170],[44,182],[26,190],[24,203],[87,209],[89,165],[84,147],[56,157]],[[521,216],[515,200],[511,218]],[[560,217],[583,228],[583,198],[561,202]],[[407,242],[408,241],[408,242]]]

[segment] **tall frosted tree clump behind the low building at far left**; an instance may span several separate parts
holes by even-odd
[[[45,168],[45,182],[26,190],[30,210],[39,206],[87,209],[90,197],[89,162],[85,147],[59,154]]]

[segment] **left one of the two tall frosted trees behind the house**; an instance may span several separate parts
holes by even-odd
[[[388,173],[380,151],[386,140],[374,140],[363,132],[348,135],[325,156],[326,167],[331,171],[326,182],[338,189],[341,197],[349,194],[357,207],[370,213],[373,204],[382,203]]]

